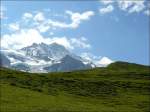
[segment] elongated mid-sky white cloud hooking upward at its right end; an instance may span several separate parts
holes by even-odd
[[[94,15],[94,12],[73,13],[72,11],[66,11],[66,14],[70,15],[71,23],[46,19],[41,12],[35,15],[34,20],[37,22],[36,24],[41,32],[46,32],[50,28],[77,28],[82,21],[89,20],[90,17]],[[43,21],[43,23],[41,23],[41,21]]]

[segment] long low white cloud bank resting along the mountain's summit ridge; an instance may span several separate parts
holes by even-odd
[[[89,48],[87,40],[81,38],[51,37],[45,38],[36,29],[21,29],[19,32],[6,34],[1,38],[1,46],[7,49],[21,49],[33,43],[58,43],[68,49]]]

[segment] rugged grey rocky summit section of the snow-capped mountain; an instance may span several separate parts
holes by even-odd
[[[32,44],[31,46],[21,49],[26,56],[34,57],[44,61],[60,60],[64,56],[70,54],[70,52],[62,45],[52,43],[50,45]]]

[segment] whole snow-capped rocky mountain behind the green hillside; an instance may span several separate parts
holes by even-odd
[[[33,43],[18,50],[1,49],[0,54],[1,66],[28,72],[73,71],[96,67],[92,61],[71,53],[57,43]],[[105,61],[109,60],[102,60]]]

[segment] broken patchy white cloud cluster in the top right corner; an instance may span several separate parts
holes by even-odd
[[[144,11],[145,9],[148,9],[149,2],[146,0],[118,0],[118,1],[112,1],[112,0],[106,0],[106,1],[100,1],[101,4],[105,5],[106,8],[99,9],[100,13],[104,14],[105,12],[112,12],[112,7],[118,7],[120,10],[128,12],[128,13],[144,13],[148,15],[147,11]],[[109,10],[110,11],[109,11]]]

